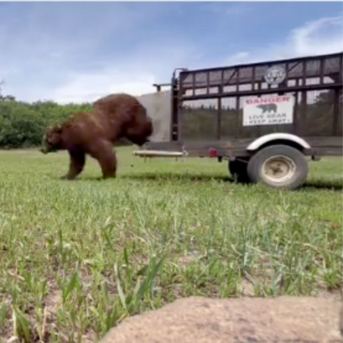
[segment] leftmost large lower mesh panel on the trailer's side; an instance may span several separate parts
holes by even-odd
[[[184,101],[179,114],[182,140],[216,139],[217,99]]]

